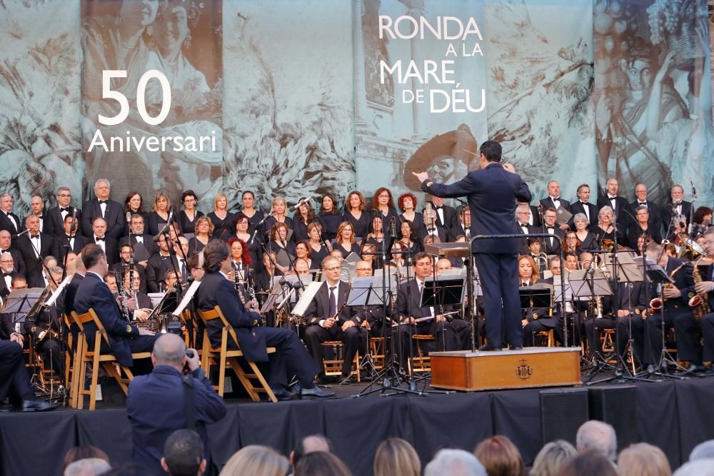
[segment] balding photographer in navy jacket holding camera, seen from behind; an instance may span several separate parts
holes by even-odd
[[[189,357],[188,355],[191,354]],[[154,370],[131,381],[126,413],[134,443],[132,459],[154,475],[163,475],[161,456],[166,439],[175,430],[195,430],[203,441],[210,465],[206,425],[226,415],[226,405],[203,370],[198,353],[175,334],[156,340],[151,355]]]

